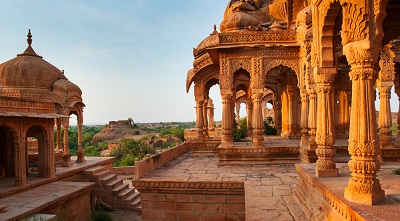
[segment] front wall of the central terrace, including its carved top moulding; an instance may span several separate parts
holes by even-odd
[[[245,220],[243,182],[135,181],[142,220]]]

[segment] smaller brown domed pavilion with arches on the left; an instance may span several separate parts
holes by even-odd
[[[0,175],[15,177],[16,186],[26,184],[30,165],[37,166],[39,177],[52,178],[56,159],[63,166],[72,164],[68,148],[72,114],[78,121],[77,163],[85,162],[82,91],[65,77],[64,71],[36,54],[30,30],[27,37],[26,50],[0,64]]]

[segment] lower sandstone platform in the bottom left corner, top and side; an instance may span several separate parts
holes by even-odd
[[[41,213],[56,214],[63,220],[90,220],[90,191],[94,186],[87,182],[54,182],[3,197],[0,204],[7,205],[7,209],[0,213],[0,220],[21,220]]]

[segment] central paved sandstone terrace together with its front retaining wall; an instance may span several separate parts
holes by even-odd
[[[219,166],[191,151],[133,180],[143,220],[306,220],[294,165]]]

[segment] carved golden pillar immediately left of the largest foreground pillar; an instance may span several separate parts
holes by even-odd
[[[318,113],[316,143],[318,148],[316,154],[318,160],[315,172],[318,177],[338,176],[338,169],[334,157],[336,155],[335,123],[334,123],[334,96],[333,80],[336,68],[316,68],[314,73],[317,85]]]

